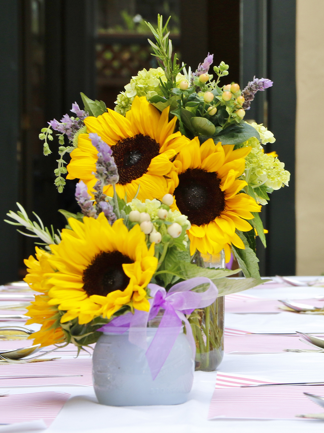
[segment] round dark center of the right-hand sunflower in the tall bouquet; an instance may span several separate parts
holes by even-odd
[[[201,168],[188,168],[179,174],[179,185],[174,191],[176,204],[190,223],[201,226],[220,216],[225,209],[225,194],[221,191],[217,173]]]

